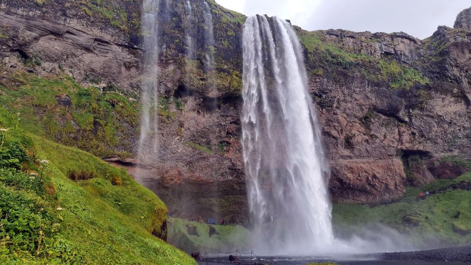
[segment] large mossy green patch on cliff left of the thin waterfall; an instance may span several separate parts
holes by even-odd
[[[46,79],[21,72],[0,90],[0,109],[12,118],[21,113],[20,125],[28,132],[102,157],[131,149],[140,106],[117,91],[84,88],[68,76]]]

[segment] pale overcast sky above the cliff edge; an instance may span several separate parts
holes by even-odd
[[[308,30],[404,31],[424,39],[440,25],[453,27],[471,0],[216,0],[247,16],[289,19]]]

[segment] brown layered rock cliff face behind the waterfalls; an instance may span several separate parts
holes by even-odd
[[[159,153],[147,163],[143,182],[164,200],[171,215],[244,222],[239,124],[244,17],[208,1],[215,53],[213,69],[205,71],[208,51],[201,43],[207,29],[196,22],[203,2],[191,1],[190,18],[183,2],[166,1],[169,12],[161,16]],[[101,157],[123,157],[123,152],[132,157],[139,135],[140,6],[140,1],[106,0],[0,2],[0,98],[14,97],[11,91],[19,86],[34,87],[25,76],[70,76],[78,86],[97,87],[100,95],[113,91],[124,99],[117,103],[105,98],[112,107],[106,119],[90,107],[88,130],[74,116],[81,107],[74,101],[78,88],[59,93],[55,102],[33,106],[30,113],[40,117],[40,133],[57,141]],[[305,46],[335,201],[397,197],[408,184],[469,170],[461,161],[471,151],[470,20],[465,10],[455,28],[439,27],[425,40],[403,32],[308,32],[295,27]],[[189,25],[196,25],[192,57],[185,55]],[[69,101],[77,108],[70,107],[67,115],[52,111]],[[126,106],[135,111],[123,112]],[[16,107],[6,106],[11,113]],[[44,122],[51,112],[58,123],[55,131]],[[75,131],[64,129],[68,120]],[[116,132],[116,139],[107,138],[106,128]],[[86,139],[93,137],[103,140],[87,145]]]

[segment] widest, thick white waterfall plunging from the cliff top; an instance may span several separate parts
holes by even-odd
[[[270,254],[312,254],[334,240],[324,158],[303,53],[276,17],[243,26],[243,159],[251,220]]]

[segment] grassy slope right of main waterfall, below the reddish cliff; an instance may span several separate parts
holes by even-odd
[[[455,180],[436,180],[408,187],[404,196],[382,205],[336,204],[334,223],[343,231],[372,224],[390,226],[416,245],[471,244],[471,173]],[[417,198],[428,190],[431,195]]]

